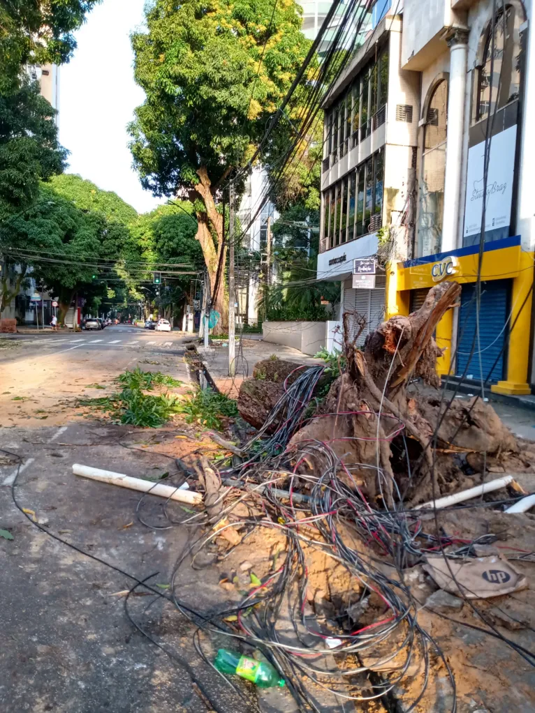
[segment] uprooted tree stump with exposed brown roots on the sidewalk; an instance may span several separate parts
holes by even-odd
[[[514,437],[489,404],[477,397],[443,399],[439,391],[436,364],[442,352],[433,334],[460,291],[451,282],[433,287],[417,312],[380,324],[363,349],[346,337],[344,373],[332,382],[321,413],[294,434],[290,448],[302,441],[328,443],[343,460],[342,480],[387,503],[394,482],[414,503],[457,488],[452,453],[516,451]],[[346,323],[349,317],[344,315]],[[344,331],[347,335],[347,324]],[[261,386],[254,390],[247,383],[240,389],[240,413],[240,401],[249,411],[251,399],[259,406],[266,401]],[[312,453],[298,472],[325,466]]]

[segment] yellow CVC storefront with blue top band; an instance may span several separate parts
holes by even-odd
[[[409,314],[411,305],[414,305],[411,295],[414,297],[416,291],[429,289],[444,280],[459,282],[466,285],[464,291],[472,289],[473,292],[474,283],[477,281],[478,263],[478,245],[392,263],[387,268],[387,317],[392,317],[394,314]],[[506,290],[508,295],[507,307],[504,299],[499,303],[496,302],[499,307],[496,309],[496,315],[491,314],[488,309],[484,314],[480,314],[480,333],[481,323],[485,322],[488,333],[496,333],[498,337],[502,335],[504,339],[504,345],[499,349],[496,359],[496,361],[500,359],[503,361],[503,378],[500,377],[497,383],[491,386],[491,390],[499,394],[531,394],[528,368],[534,253],[522,251],[519,236],[487,242],[484,246],[481,282],[488,282],[490,287],[498,284],[504,286],[502,292],[505,294]],[[501,321],[500,310],[503,313]],[[506,319],[504,319],[505,314]],[[468,331],[472,329],[469,337],[473,344],[472,322],[465,321],[464,330],[459,331],[459,335],[466,337],[467,324]],[[461,326],[459,324],[459,327]],[[439,374],[455,374],[452,369],[452,344],[455,349],[457,338],[453,339],[453,329],[454,312],[449,310],[437,326],[437,344],[444,350],[443,356],[439,359]],[[497,348],[496,339],[493,342],[494,352]],[[461,359],[461,352],[458,353],[458,359]],[[484,374],[483,371],[481,373]],[[485,378],[490,373],[491,371],[484,374]]]

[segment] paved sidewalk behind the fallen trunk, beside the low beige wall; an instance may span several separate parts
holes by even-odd
[[[256,337],[256,335],[254,336]],[[223,344],[225,344],[224,347]],[[242,381],[253,376],[256,362],[269,359],[272,354],[275,354],[279,359],[285,359],[285,361],[295,361],[296,366],[299,364],[313,366],[323,363],[321,359],[314,359],[312,356],[303,354],[299,349],[245,337],[241,349],[239,343],[236,342],[235,376],[232,377],[228,375],[228,342],[223,342],[223,344],[210,344],[208,349],[205,349],[203,344],[197,343],[196,347],[218,389],[233,398],[238,396]]]

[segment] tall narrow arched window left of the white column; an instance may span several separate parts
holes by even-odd
[[[422,173],[419,185],[418,254],[440,251],[446,175],[448,83],[434,87],[424,125]]]

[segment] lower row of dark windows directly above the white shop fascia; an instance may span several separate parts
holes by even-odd
[[[381,227],[384,148],[323,193],[323,250]]]

